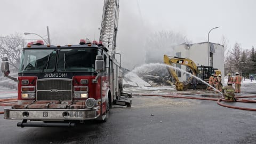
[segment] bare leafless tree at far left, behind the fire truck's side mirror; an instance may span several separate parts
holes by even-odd
[[[21,50],[26,42],[20,34],[0,37],[0,58],[8,57],[11,67],[19,69]]]

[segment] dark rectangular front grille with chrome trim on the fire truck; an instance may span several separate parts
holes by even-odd
[[[71,100],[72,79],[38,79],[37,100]]]

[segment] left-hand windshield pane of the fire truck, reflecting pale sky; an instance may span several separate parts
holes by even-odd
[[[21,56],[19,73],[53,72],[55,69],[57,51],[47,50],[24,50]]]

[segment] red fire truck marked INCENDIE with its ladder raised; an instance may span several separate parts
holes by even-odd
[[[22,119],[20,127],[73,127],[88,119],[106,122],[113,105],[131,107],[131,94],[122,91],[121,58],[115,59],[118,3],[105,1],[99,42],[30,42],[22,50],[18,79],[3,58],[4,76],[18,82],[18,103],[4,109],[5,119]]]

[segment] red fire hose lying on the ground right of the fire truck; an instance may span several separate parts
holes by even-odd
[[[159,94],[133,94],[133,95],[141,95],[141,96],[157,96],[157,97],[165,97],[165,98],[181,98],[181,99],[196,99],[196,100],[211,100],[211,101],[217,101],[218,105],[223,106],[223,107],[228,107],[228,108],[234,108],[234,109],[242,109],[242,110],[251,110],[251,111],[256,111],[255,108],[244,108],[244,107],[236,107],[236,106],[230,106],[230,105],[225,105],[221,103],[221,101],[228,101],[225,98],[220,98],[220,99],[214,99],[214,98],[196,98],[196,97],[182,97],[179,95],[159,95]],[[247,97],[235,97],[237,102],[247,102],[247,103],[256,103],[256,100],[247,100],[247,99],[241,99],[241,98],[256,98],[256,96],[247,96]],[[240,100],[241,99],[241,100]]]

